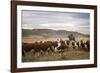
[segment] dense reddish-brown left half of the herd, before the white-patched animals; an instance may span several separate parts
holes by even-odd
[[[24,55],[25,52],[29,52],[31,50],[34,50],[34,53],[44,53],[44,52],[49,52],[54,51],[52,48],[52,45],[54,44],[54,47],[57,45],[55,43],[52,43],[51,41],[47,42],[34,42],[34,43],[23,43],[22,45],[22,53]]]

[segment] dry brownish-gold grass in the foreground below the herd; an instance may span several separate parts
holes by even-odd
[[[84,50],[65,50],[63,53],[49,53],[47,55],[31,55],[23,57],[23,62],[39,62],[39,61],[60,61],[60,60],[82,60],[89,59],[89,52]]]

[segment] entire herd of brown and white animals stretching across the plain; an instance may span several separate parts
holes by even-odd
[[[90,51],[90,41],[56,40],[22,43],[23,56],[30,51],[33,54],[38,53],[38,55],[41,55],[45,53],[63,53],[65,50],[69,51],[70,49]]]

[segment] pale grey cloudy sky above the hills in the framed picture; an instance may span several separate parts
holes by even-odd
[[[90,33],[90,14],[22,10],[22,29],[53,29]]]

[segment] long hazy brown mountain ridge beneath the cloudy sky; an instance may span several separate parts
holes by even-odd
[[[87,34],[82,34],[74,31],[67,30],[53,30],[53,29],[22,29],[22,36],[42,36],[42,37],[68,37],[70,34],[73,34],[75,37],[86,36]]]

